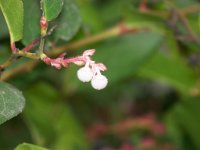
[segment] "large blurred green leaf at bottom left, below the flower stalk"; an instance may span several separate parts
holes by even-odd
[[[75,145],[88,150],[81,126],[56,89],[38,83],[32,85],[25,95],[28,97],[25,120],[38,145],[48,145],[54,150],[74,149]]]

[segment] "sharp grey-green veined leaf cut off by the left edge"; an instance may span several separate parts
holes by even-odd
[[[0,124],[22,112],[25,99],[13,86],[0,82]]]

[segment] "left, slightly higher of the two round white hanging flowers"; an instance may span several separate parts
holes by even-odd
[[[93,72],[88,66],[84,66],[77,71],[77,76],[82,82],[89,82],[92,80]]]

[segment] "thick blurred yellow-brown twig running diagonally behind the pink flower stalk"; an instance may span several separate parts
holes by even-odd
[[[144,31],[144,29],[135,29],[131,26],[127,26],[126,24],[120,24],[109,30],[99,33],[97,35],[86,37],[82,40],[75,41],[70,44],[63,45],[61,47],[53,48],[50,50],[48,55],[56,56],[56,55],[59,55],[59,54],[65,52],[66,50],[76,50],[80,47],[83,47],[83,46],[86,46],[86,45],[89,45],[92,43],[100,42],[100,41],[103,41],[103,40],[111,38],[111,37],[120,36],[122,34],[131,33],[131,32],[139,32],[139,31]],[[5,81],[5,80],[8,80],[8,79],[14,77],[17,74],[22,74],[24,72],[30,71],[38,63],[39,63],[39,61],[31,60],[23,65],[16,67],[14,70],[10,70],[10,71],[3,73],[0,80]]]

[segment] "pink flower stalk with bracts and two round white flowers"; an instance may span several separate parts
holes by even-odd
[[[91,56],[95,53],[95,49],[86,50],[81,56],[74,58],[65,58],[65,53],[61,54],[56,59],[51,59],[44,55],[41,59],[48,65],[61,69],[62,67],[68,67],[70,63],[74,63],[78,66],[84,65],[77,71],[77,76],[82,82],[90,82],[94,89],[104,89],[108,84],[108,79],[101,74],[101,71],[107,70],[106,66],[102,63],[95,63],[91,60]]]

